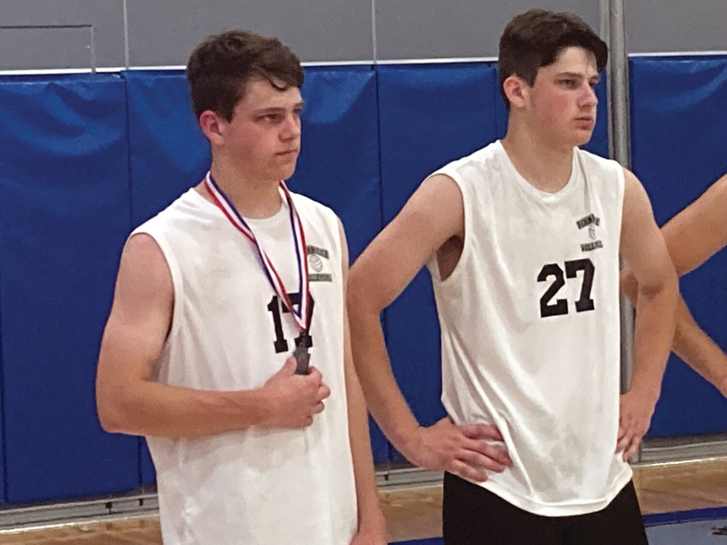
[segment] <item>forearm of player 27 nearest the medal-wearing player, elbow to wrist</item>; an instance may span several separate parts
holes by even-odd
[[[349,308],[356,310],[356,305],[351,304]],[[366,405],[386,437],[401,451],[406,437],[419,427],[419,423],[391,371],[379,316],[359,308],[351,312],[349,318],[353,361]]]

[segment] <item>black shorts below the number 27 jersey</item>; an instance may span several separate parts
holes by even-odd
[[[444,474],[445,545],[647,545],[633,483],[601,511],[543,517]]]

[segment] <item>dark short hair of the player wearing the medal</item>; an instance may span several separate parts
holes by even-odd
[[[187,81],[197,118],[205,110],[231,121],[246,84],[263,79],[280,91],[300,89],[300,60],[280,40],[247,31],[226,31],[199,44],[187,63]],[[279,82],[283,82],[283,86]]]

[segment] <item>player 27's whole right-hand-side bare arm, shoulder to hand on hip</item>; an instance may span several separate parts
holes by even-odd
[[[646,433],[659,398],[674,338],[678,281],[646,191],[630,171],[624,169],[624,177],[621,253],[638,282],[634,366],[629,392],[622,397],[617,448],[626,449],[627,459]]]

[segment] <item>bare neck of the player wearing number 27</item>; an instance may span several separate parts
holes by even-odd
[[[515,170],[534,187],[557,193],[571,178],[573,146],[553,145],[528,129],[512,124],[502,139],[502,147]]]

